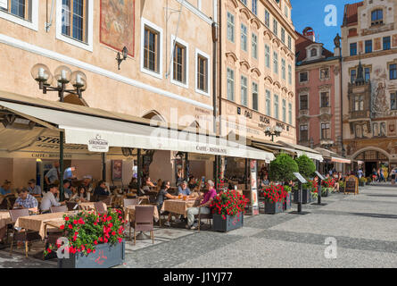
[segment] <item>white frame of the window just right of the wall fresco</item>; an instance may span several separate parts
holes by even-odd
[[[144,54],[145,54],[144,53],[144,51],[145,51],[145,27],[146,26],[149,29],[153,29],[154,31],[156,31],[159,34],[159,39],[158,39],[159,51],[158,51],[158,59],[157,59],[157,61],[159,63],[159,71],[158,72],[146,69],[145,65],[144,65],[144,63],[145,63],[145,61],[144,61],[145,60],[144,59],[145,58],[145,56],[144,56]],[[141,19],[141,71],[146,73],[146,74],[149,74],[149,75],[151,75],[151,76],[153,76],[155,78],[158,78],[160,80],[162,80],[162,58],[163,58],[162,57],[163,56],[162,55],[162,40],[163,40],[162,37],[163,37],[163,32],[162,32],[162,29],[159,26],[155,25],[151,21],[146,20],[145,18]],[[172,45],[172,41],[171,41],[171,45]],[[172,53],[172,49],[171,49],[170,53]]]

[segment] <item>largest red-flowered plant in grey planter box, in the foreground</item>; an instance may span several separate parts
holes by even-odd
[[[123,223],[120,210],[109,209],[103,215],[87,211],[63,215],[61,229],[69,245],[64,248],[64,257],[58,257],[58,267],[109,268],[121,265],[125,258]],[[45,255],[52,251],[53,246],[50,246]]]

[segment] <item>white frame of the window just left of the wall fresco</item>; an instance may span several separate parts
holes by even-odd
[[[87,1],[87,14],[88,17],[86,20],[86,33],[87,33],[87,43],[80,41],[77,38],[72,38],[70,36],[65,36],[62,34],[62,0],[56,0],[56,38],[66,42],[72,46],[78,46],[82,49],[85,49],[89,52],[93,52],[94,50],[94,0],[86,0]]]

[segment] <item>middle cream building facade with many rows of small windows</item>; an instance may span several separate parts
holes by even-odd
[[[221,0],[220,133],[296,143],[295,39],[292,6],[285,0]]]

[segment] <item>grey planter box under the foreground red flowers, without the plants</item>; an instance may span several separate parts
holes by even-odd
[[[58,258],[58,268],[110,268],[122,265],[125,249],[124,240],[114,245],[98,244],[95,253],[90,253],[87,256],[82,253],[70,253],[68,259]]]

